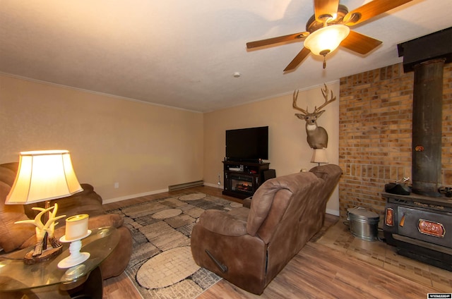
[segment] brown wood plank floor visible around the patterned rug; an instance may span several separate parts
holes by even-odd
[[[208,186],[189,188],[153,195],[152,199],[189,191],[202,192],[241,202],[221,194],[218,188]],[[105,205],[115,209],[143,202],[143,198],[124,200]],[[357,260],[344,252],[316,243],[323,233],[338,221],[337,216],[326,216],[325,226],[273,279],[262,295],[243,291],[224,279],[198,296],[210,298],[427,298],[427,293],[444,293],[424,283],[412,281],[398,274]],[[447,290],[446,290],[447,291]],[[452,290],[451,290],[452,291]],[[104,281],[104,298],[141,298],[126,274]]]

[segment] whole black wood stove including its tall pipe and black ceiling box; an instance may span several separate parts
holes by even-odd
[[[432,42],[441,46],[429,47]],[[414,71],[412,193],[382,194],[386,198],[383,221],[386,242],[396,246],[400,255],[449,271],[452,271],[452,198],[439,190],[444,189],[441,186],[443,73],[444,63],[452,61],[451,49],[452,28],[398,44],[404,71]],[[447,189],[450,193],[450,188]]]

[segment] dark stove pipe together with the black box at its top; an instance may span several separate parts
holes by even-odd
[[[397,45],[403,71],[414,69],[412,192],[439,197],[444,64],[452,62],[452,27]]]

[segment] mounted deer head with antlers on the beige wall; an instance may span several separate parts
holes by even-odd
[[[322,127],[317,126],[317,118],[319,118],[325,110],[323,107],[330,104],[331,102],[334,102],[336,97],[333,97],[333,91],[331,91],[331,98],[328,100],[328,87],[321,90],[323,94],[323,98],[325,99],[325,102],[317,108],[317,106],[314,107],[314,111],[309,113],[308,108],[306,107],[306,110],[299,108],[297,106],[297,97],[298,97],[298,90],[294,91],[293,94],[293,104],[292,106],[294,109],[297,109],[299,111],[302,111],[302,114],[295,114],[298,118],[304,119],[306,121],[306,133],[307,133],[307,141],[311,148],[313,149],[322,149],[328,147],[328,133],[326,133],[326,130]]]

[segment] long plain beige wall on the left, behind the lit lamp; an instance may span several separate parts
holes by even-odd
[[[0,163],[70,150],[79,181],[104,200],[203,179],[203,114],[4,75],[0,140]]]

